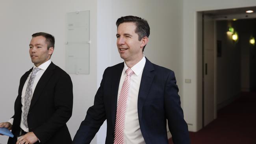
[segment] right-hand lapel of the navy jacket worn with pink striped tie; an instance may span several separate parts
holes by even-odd
[[[141,84],[139,87],[139,95],[138,95],[138,116],[139,120],[141,120],[142,116],[142,108],[145,100],[147,99],[148,92],[150,90],[152,81],[154,79],[154,66],[152,63],[146,58],[146,63],[143,69],[143,73],[141,76]]]

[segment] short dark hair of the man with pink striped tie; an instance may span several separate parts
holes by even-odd
[[[141,41],[141,39],[143,37],[149,37],[150,28],[149,28],[147,20],[140,18],[140,17],[135,17],[135,16],[125,16],[125,17],[118,18],[117,22],[115,24],[117,25],[117,28],[118,28],[118,26],[124,22],[134,22],[135,23],[135,25],[136,25],[135,33],[137,33],[139,35],[139,41]],[[145,46],[143,47],[143,52],[144,52]]]

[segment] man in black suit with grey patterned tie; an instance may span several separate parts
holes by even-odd
[[[54,37],[34,33],[29,44],[33,68],[20,78],[14,115],[0,127],[12,130],[8,144],[70,144],[67,121],[72,115],[70,76],[50,60]]]

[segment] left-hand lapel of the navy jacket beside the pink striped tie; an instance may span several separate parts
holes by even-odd
[[[112,92],[111,112],[112,112],[112,122],[114,127],[115,127],[115,118],[116,118],[115,116],[117,113],[117,94],[118,94],[118,88],[119,88],[119,83],[120,83],[123,69],[124,69],[124,63],[119,64],[117,68],[114,69],[111,76],[111,78],[113,78],[113,81],[111,83],[111,92]]]

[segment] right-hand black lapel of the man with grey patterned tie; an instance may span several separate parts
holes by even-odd
[[[53,63],[50,63],[48,68],[45,70],[45,72],[39,79],[39,81],[35,87],[34,93],[33,93],[33,97],[32,97],[31,103],[30,103],[30,109],[33,107],[33,105],[35,105],[36,101],[42,94],[43,89],[45,88],[45,86],[48,83],[49,79],[51,78],[52,74],[54,73],[55,67],[56,67],[56,65],[54,65]]]

